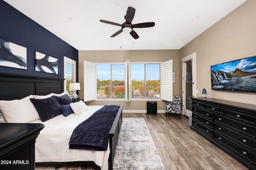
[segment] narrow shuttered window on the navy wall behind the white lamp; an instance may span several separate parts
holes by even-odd
[[[72,91],[69,90],[69,84],[76,82],[76,61],[64,56],[64,91],[68,91],[71,96]]]

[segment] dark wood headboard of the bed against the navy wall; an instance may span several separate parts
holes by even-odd
[[[64,91],[64,80],[64,78],[0,73],[0,100],[21,99],[30,94],[60,94]]]

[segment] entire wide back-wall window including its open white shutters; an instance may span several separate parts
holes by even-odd
[[[146,88],[145,88],[146,87]],[[125,99],[172,101],[172,60],[162,63],[84,61],[84,101]]]

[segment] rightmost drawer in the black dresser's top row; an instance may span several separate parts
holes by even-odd
[[[238,121],[245,121],[247,123],[256,124],[256,117],[250,114],[246,114],[244,111],[234,111],[232,109],[225,109],[225,113],[228,117],[236,118]]]

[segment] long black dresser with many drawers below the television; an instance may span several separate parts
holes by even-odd
[[[256,169],[256,105],[192,98],[190,128]]]

